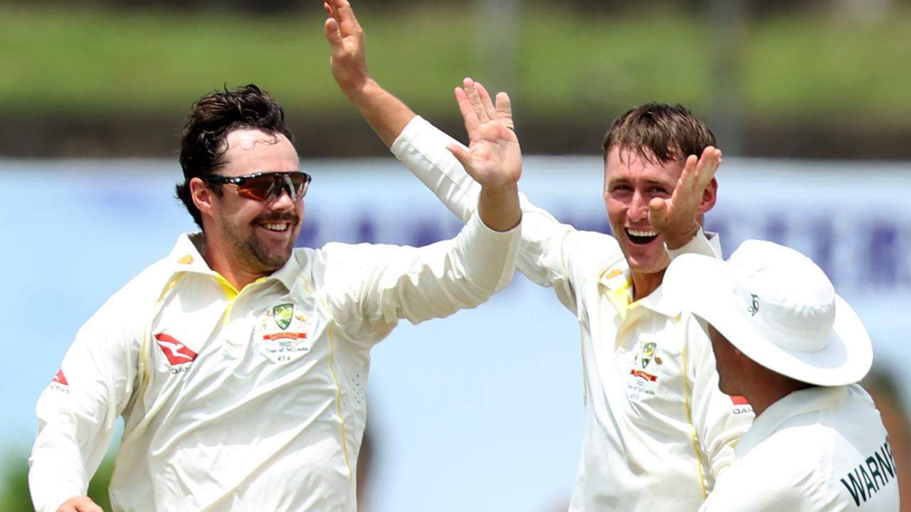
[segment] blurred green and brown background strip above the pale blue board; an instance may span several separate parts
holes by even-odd
[[[381,153],[334,85],[321,4],[0,0],[0,155],[169,156],[195,98],[249,82],[303,152]],[[507,89],[532,153],[596,152],[613,118],[657,100],[708,118],[728,154],[911,158],[907,0],[355,8],[384,87],[451,129],[461,77]]]

